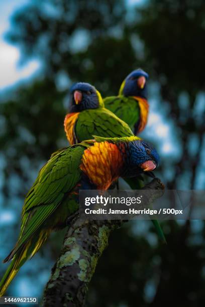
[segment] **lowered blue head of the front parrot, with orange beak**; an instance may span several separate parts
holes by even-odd
[[[128,142],[124,159],[128,177],[134,177],[143,172],[151,172],[159,165],[159,155],[156,149],[141,139]]]

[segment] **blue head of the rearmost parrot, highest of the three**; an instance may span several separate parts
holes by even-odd
[[[120,94],[147,99],[147,79],[149,75],[142,69],[132,71],[123,81]]]

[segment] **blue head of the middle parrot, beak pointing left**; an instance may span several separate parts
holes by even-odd
[[[89,83],[78,82],[70,88],[69,112],[81,112],[87,109],[96,109],[102,106],[100,93]]]

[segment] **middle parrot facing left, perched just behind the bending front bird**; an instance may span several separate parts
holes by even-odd
[[[148,78],[148,75],[144,74]],[[145,77],[142,77],[144,80]],[[146,90],[145,86],[144,90]],[[70,106],[64,119],[64,129],[70,144],[90,139],[92,135],[101,137],[134,136],[126,122],[105,108],[99,91],[91,84],[84,82],[77,82],[70,88]],[[147,175],[153,177],[151,172],[147,172]],[[133,190],[142,188],[141,177],[132,178],[132,180],[124,178],[124,180]],[[166,242],[159,222],[152,220],[152,223],[160,239]]]

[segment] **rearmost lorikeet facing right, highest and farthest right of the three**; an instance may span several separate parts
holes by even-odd
[[[148,77],[148,74],[142,69],[134,70],[121,84],[118,96],[104,99],[105,107],[124,120],[135,135],[141,132],[147,123],[149,112]]]

